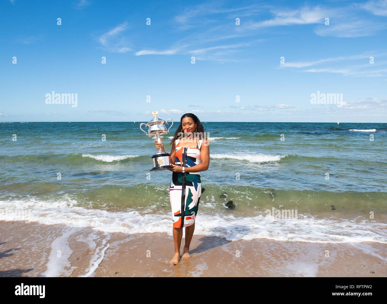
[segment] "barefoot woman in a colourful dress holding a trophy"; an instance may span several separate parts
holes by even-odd
[[[163,149],[163,138],[156,149]],[[196,115],[184,114],[180,118],[175,136],[171,140],[171,164],[173,168],[170,182],[170,201],[173,221],[173,241],[175,255],[170,264],[176,265],[180,260],[180,244],[185,227],[185,245],[183,259],[190,258],[189,249],[195,230],[195,217],[199,207],[202,183],[200,172],[208,169],[210,163],[209,142],[205,137],[204,127]],[[184,170],[183,170],[184,169]]]

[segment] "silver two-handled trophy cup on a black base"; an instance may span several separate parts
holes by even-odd
[[[171,129],[171,127],[173,126],[173,121],[172,121],[172,119],[167,119],[167,120],[159,119],[157,117],[158,113],[159,113],[158,111],[153,111],[152,112],[153,119],[150,122],[148,122],[147,124],[145,124],[144,122],[142,124],[140,124],[140,129],[142,132],[144,132],[149,137],[156,135],[157,141],[159,143],[161,143],[160,134],[167,134],[169,132],[169,130]],[[164,126],[164,124],[168,125],[169,120],[172,122],[172,124],[167,130],[166,127]],[[142,125],[145,125],[146,127],[149,128],[148,133],[145,132],[141,128]],[[163,151],[161,148],[159,149],[159,151],[155,155],[152,156],[152,161],[153,161],[153,168],[149,171],[156,171],[156,170],[164,170],[164,169],[168,169],[168,168],[173,168],[173,166],[171,165],[171,155],[169,153]]]

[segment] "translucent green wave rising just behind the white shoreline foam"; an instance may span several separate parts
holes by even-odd
[[[83,176],[90,178],[109,178],[113,173],[90,171],[84,172]],[[78,178],[82,175],[74,175]],[[336,176],[336,175],[335,175]],[[110,178],[111,182],[111,178]],[[281,190],[272,188],[262,188],[246,185],[219,186],[210,182],[205,184],[200,205],[204,213],[223,213],[225,198],[219,196],[226,192],[227,200],[232,200],[236,204],[233,211],[235,215],[252,215],[256,210],[262,210],[272,204],[281,205],[285,209],[298,209],[298,212],[311,211],[317,214],[331,212],[334,205],[337,212],[358,212],[362,214],[364,210],[374,212],[387,212],[385,198],[387,192],[330,192],[330,191],[309,191],[309,190]],[[28,188],[30,193],[39,195],[39,192],[46,194],[56,192],[50,196],[51,199],[58,199],[67,193],[65,187],[48,188],[46,182],[42,181],[34,185],[28,182],[19,184],[19,187]],[[12,190],[12,189],[11,189]],[[52,191],[50,191],[52,190]],[[16,198],[19,194],[9,192],[11,196],[7,199]],[[3,196],[4,197],[4,196]],[[71,190],[71,197],[78,202],[78,206],[84,207],[106,207],[106,208],[151,208],[151,210],[166,210],[170,208],[169,184],[150,185],[140,182],[137,185],[119,184],[94,184],[85,187],[78,187]],[[290,199],[291,198],[291,199]],[[274,201],[273,201],[274,199]],[[329,202],[330,204],[327,204]],[[347,202],[351,202],[348,204]],[[386,213],[387,214],[387,213]]]

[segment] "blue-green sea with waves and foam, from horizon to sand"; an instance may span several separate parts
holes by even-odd
[[[150,171],[157,149],[140,123],[0,123],[0,220],[172,235],[172,172]],[[195,234],[387,242],[387,124],[202,124]]]

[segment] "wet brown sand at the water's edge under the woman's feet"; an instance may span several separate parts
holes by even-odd
[[[181,253],[183,252],[184,238]],[[386,277],[387,244],[228,241],[194,235],[173,266],[166,233],[0,221],[0,277]],[[329,251],[329,257],[327,256]]]

